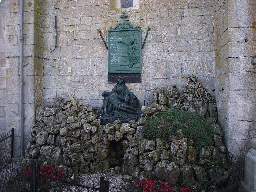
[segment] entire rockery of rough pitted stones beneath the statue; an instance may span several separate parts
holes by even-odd
[[[221,127],[215,124],[216,106],[195,76],[188,76],[182,95],[175,86],[170,86],[166,92],[162,87],[156,89],[153,96],[154,101],[142,107],[138,122],[129,123],[116,120],[101,125],[94,107],[78,104],[74,96],[58,98],[51,107],[41,106],[36,110],[36,123],[23,161],[62,165],[89,173],[105,169],[113,174],[121,171],[126,180],[150,177],[183,183],[226,176],[226,147]],[[182,130],[171,143],[160,138],[143,138],[146,118],[157,117],[167,107],[208,117],[214,133],[210,146],[196,152]]]

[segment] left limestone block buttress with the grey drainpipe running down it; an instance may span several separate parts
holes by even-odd
[[[23,1],[23,103],[24,145],[35,120],[35,108],[42,102],[42,2]],[[15,155],[20,155],[20,1],[6,0],[6,126],[15,128]],[[3,62],[4,63],[4,62]],[[1,62],[2,64],[2,62]]]

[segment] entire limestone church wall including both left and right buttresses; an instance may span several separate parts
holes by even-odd
[[[142,28],[142,39],[151,28],[142,49],[142,83],[127,84],[140,104],[146,105],[160,85],[177,85],[182,91],[186,76],[196,75],[217,100],[218,123],[229,151],[243,158],[256,122],[256,78],[250,65],[255,54],[255,1],[139,0],[139,8],[115,9],[116,1],[57,0],[58,38],[53,52],[49,49],[55,44],[55,1],[23,1],[25,143],[36,106],[42,102],[50,104],[58,96],[73,94],[79,103],[101,107],[101,93],[114,84],[107,81],[107,50],[97,29],[107,37],[107,30],[126,12],[127,21]],[[0,129],[15,128],[17,155],[20,5],[19,0],[1,2]]]

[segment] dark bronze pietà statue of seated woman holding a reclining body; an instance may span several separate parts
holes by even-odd
[[[141,107],[139,100],[129,92],[124,84],[124,78],[120,77],[117,84],[111,92],[104,91],[102,110],[99,114],[101,120],[116,120],[130,121],[139,119],[141,115]]]

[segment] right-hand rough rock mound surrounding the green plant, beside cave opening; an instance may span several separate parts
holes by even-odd
[[[136,137],[123,141],[127,146],[124,155],[123,174],[143,178],[166,180],[171,183],[184,183],[211,180],[225,177],[228,172],[226,147],[222,142],[223,132],[218,124],[216,105],[209,92],[202,87],[193,75],[188,76],[184,93],[179,94],[176,86],[156,88],[154,100],[142,107],[138,120]],[[213,140],[210,146],[196,152],[191,140],[184,138],[179,130],[178,138],[173,138],[170,145],[163,139],[142,138],[142,129],[147,118],[156,118],[160,111],[167,108],[188,110],[207,117],[211,123]]]

